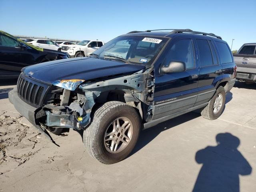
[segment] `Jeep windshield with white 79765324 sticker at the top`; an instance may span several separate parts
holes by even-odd
[[[162,37],[120,36],[93,52],[98,58],[122,59],[150,65],[168,39]]]

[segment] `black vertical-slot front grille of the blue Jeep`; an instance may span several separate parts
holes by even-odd
[[[49,87],[48,84],[43,84],[20,74],[17,82],[17,94],[28,104],[41,106]]]

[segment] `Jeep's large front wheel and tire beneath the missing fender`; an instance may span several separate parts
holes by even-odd
[[[132,152],[140,134],[138,112],[123,102],[106,102],[84,131],[87,152],[104,164],[114,164]]]

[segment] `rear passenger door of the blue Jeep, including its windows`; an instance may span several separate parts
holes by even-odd
[[[215,85],[222,79],[222,66],[218,60],[216,47],[211,38],[196,39],[199,62],[198,97],[195,105],[208,102],[215,93]]]

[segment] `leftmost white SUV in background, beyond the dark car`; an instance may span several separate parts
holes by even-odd
[[[26,39],[25,42],[40,48],[61,51],[61,47],[49,39]]]

